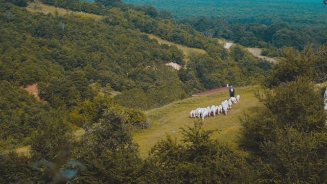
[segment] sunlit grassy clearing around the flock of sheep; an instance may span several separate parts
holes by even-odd
[[[243,116],[243,112],[249,113],[252,107],[259,105],[258,99],[254,97],[254,91],[259,89],[259,86],[237,88],[236,95],[241,96],[240,102],[232,106],[227,116],[217,114],[216,117],[206,119],[203,127],[205,129],[218,129],[219,131],[213,137],[217,137],[222,142],[235,145],[241,127],[239,118]],[[134,142],[139,145],[141,156],[147,156],[157,140],[165,139],[166,134],[180,140],[182,134],[179,128],[191,126],[195,121],[200,120],[199,118],[190,118],[191,110],[198,107],[219,105],[223,100],[228,98],[228,91],[223,90],[214,94],[188,98],[147,111],[147,116],[152,120],[152,126],[148,129],[135,132],[133,136]]]

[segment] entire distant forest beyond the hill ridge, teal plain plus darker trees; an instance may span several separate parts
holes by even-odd
[[[322,1],[124,1],[151,5],[174,14],[178,24],[190,24],[206,36],[225,38],[247,47],[302,50],[310,41],[326,43],[327,7]]]

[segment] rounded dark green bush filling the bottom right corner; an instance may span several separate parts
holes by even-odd
[[[259,158],[258,182],[323,183],[327,179],[326,132],[299,132],[294,128],[276,132],[276,140],[265,141]]]

